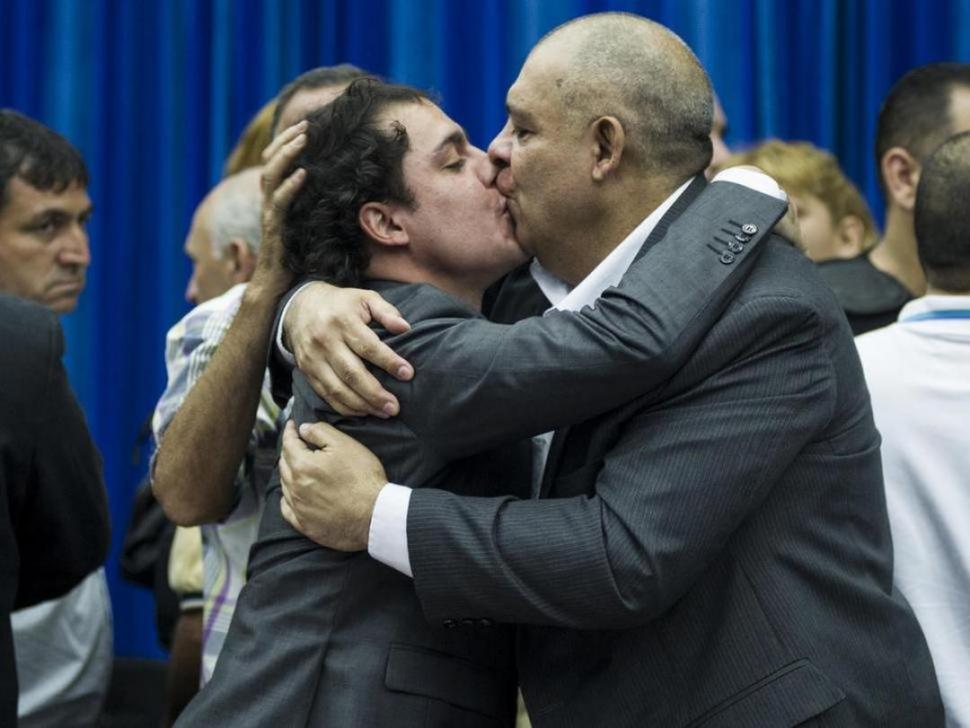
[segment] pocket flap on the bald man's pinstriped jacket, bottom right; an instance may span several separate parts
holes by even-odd
[[[732,696],[690,728],[791,728],[844,699],[815,665],[799,660]]]

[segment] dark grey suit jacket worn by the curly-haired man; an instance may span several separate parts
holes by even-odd
[[[761,232],[725,263],[717,237],[738,207]],[[719,316],[784,209],[735,185],[713,186],[618,289],[581,315],[500,326],[430,286],[373,282],[412,323],[389,339],[417,372],[410,383],[389,384],[401,415],[340,418],[297,372],[293,418],[336,423],[373,448],[397,482],[527,495],[528,479],[516,473],[528,473],[528,449],[473,453],[579,422],[662,384]],[[316,547],[283,521],[279,500],[271,489],[212,682],[179,725],[511,724],[509,626],[429,624],[409,578],[366,553]]]

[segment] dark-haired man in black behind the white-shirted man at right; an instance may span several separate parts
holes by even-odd
[[[913,231],[921,166],[944,139],[967,129],[968,63],[915,68],[883,102],[876,129],[876,164],[886,201],[882,240],[868,254],[819,268],[855,334],[892,323],[907,301],[926,291]]]

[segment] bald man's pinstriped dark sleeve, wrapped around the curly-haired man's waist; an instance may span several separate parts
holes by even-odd
[[[784,297],[732,312],[721,325],[736,350],[676,401],[625,422],[589,465],[591,497],[415,490],[409,555],[428,618],[623,628],[666,611],[831,418],[818,320]]]

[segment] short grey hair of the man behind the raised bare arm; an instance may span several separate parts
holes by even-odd
[[[256,253],[262,240],[260,220],[262,196],[259,177],[262,169],[252,167],[222,180],[212,190],[207,216],[212,252],[222,257],[234,239],[245,241]]]

